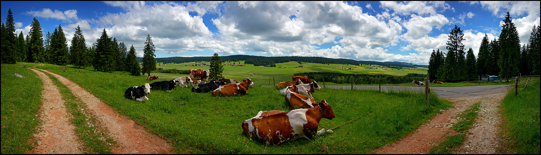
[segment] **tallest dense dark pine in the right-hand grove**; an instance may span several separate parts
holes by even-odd
[[[500,32],[500,52],[498,66],[500,68],[500,77],[505,77],[505,82],[509,82],[509,77],[517,76],[519,73],[518,60],[520,58],[520,38],[517,28],[511,21],[509,11],[503,20],[502,32]]]

